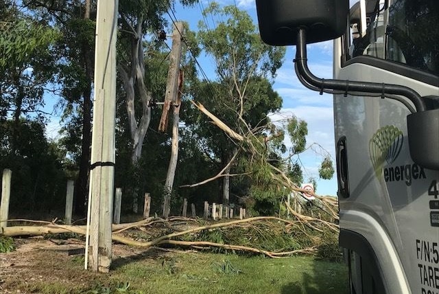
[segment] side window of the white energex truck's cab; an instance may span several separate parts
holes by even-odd
[[[366,35],[353,34],[351,56],[382,58],[439,76],[439,1],[381,2],[367,13]]]

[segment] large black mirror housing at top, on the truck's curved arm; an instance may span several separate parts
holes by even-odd
[[[307,43],[338,38],[348,25],[349,0],[256,0],[259,32],[268,45],[296,45],[300,27]]]

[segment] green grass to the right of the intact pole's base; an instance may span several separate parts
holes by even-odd
[[[308,256],[285,259],[213,253],[174,254],[155,262],[114,262],[111,282],[128,293],[348,293],[344,264]],[[115,289],[114,293],[118,293]]]

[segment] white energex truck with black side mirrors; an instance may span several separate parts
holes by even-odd
[[[351,293],[439,294],[439,0],[256,0],[261,38],[296,45],[333,93],[340,246]],[[334,39],[333,79],[307,43]]]

